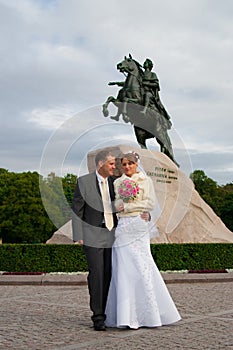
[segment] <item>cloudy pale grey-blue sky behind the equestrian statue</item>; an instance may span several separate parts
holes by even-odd
[[[232,182],[232,15],[232,0],[0,0],[0,167],[75,173],[93,148],[135,143],[101,113],[131,53],[154,62],[181,170]]]

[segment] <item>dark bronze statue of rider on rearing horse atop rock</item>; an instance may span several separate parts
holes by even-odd
[[[144,68],[144,70],[143,70]],[[112,102],[117,108],[117,114],[111,119],[133,124],[137,142],[146,148],[146,140],[156,138],[160,151],[166,154],[177,166],[167,130],[172,123],[169,114],[159,97],[159,80],[152,72],[153,63],[146,59],[143,67],[131,55],[117,64],[117,69],[126,76],[125,81],[110,82],[108,85],[121,87],[117,98],[109,96],[103,104],[103,114],[109,115],[108,105]]]

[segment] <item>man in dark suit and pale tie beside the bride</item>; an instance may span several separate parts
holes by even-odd
[[[111,247],[117,225],[117,217],[111,207],[115,196],[115,157],[107,150],[100,151],[95,157],[95,164],[95,172],[78,178],[72,206],[72,228],[73,240],[83,245],[87,259],[94,329],[105,331],[105,307],[112,269]]]

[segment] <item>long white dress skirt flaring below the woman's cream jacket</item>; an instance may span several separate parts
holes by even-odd
[[[148,223],[140,215],[120,218],[112,249],[108,327],[158,327],[180,320],[150,252]]]

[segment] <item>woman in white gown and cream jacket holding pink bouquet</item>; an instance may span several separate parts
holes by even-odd
[[[112,249],[112,279],[106,326],[158,327],[181,319],[150,251],[149,222],[155,207],[152,180],[137,172],[137,153],[124,154],[123,175],[114,182],[118,226]]]

